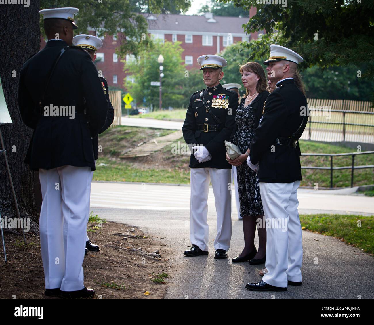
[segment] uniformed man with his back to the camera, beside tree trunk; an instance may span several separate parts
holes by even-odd
[[[95,170],[91,138],[104,125],[108,107],[92,59],[71,46],[78,11],[40,11],[48,42],[25,62],[19,80],[21,117],[34,129],[26,162],[39,169],[43,197],[39,224],[45,294],[64,298],[95,294],[83,284],[82,263]],[[49,105],[56,107],[52,115]],[[66,107],[74,116],[66,114]]]

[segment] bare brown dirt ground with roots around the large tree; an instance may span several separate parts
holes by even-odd
[[[93,226],[90,223],[88,229]],[[83,261],[85,286],[95,289],[95,299],[165,297],[170,263],[162,239],[113,222],[104,223],[98,230],[88,232],[88,236],[100,247],[98,252],[89,251]],[[15,295],[16,299],[59,299],[43,294],[39,236],[27,235],[26,240],[28,245],[24,246],[22,236],[5,234],[8,262],[4,263],[1,247],[0,298],[11,299]],[[155,253],[146,254],[152,252]]]

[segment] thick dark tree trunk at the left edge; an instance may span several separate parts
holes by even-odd
[[[19,74],[27,59],[40,48],[40,1],[0,6],[0,76],[13,123],[0,125],[21,218],[30,218],[30,230],[38,231],[35,211],[34,172],[24,163],[32,130],[24,125],[18,108]],[[0,154],[0,212],[18,218],[4,155]]]

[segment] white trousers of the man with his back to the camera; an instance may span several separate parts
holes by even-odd
[[[39,169],[42,188],[40,245],[46,289],[76,291],[83,285],[91,168]]]

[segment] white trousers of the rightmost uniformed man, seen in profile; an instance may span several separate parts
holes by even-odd
[[[266,218],[267,284],[285,288],[287,280],[301,281],[303,247],[302,230],[297,207],[297,188],[292,183],[260,183],[260,192]]]

